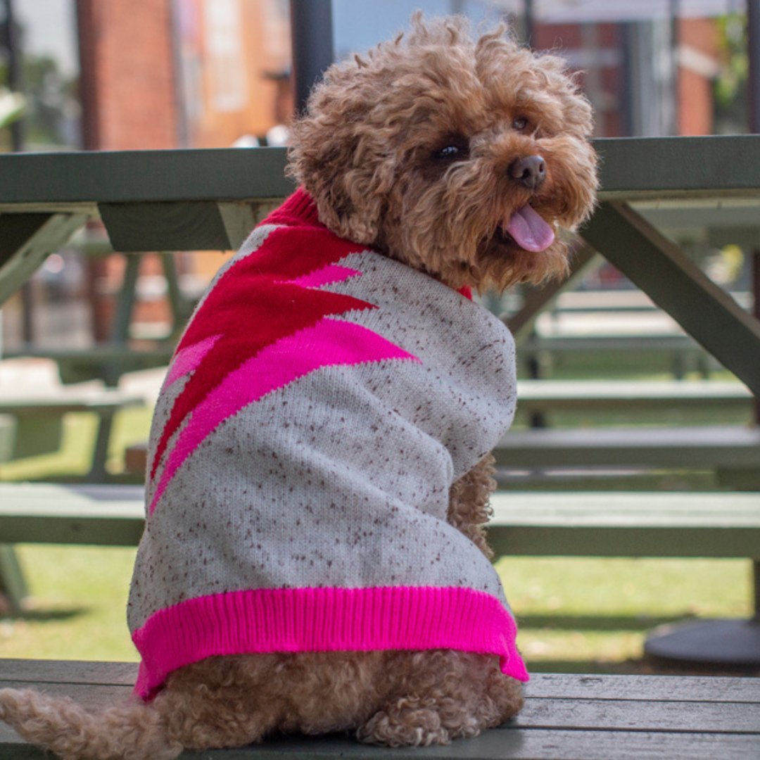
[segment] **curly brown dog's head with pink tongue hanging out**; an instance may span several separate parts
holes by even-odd
[[[559,227],[594,205],[591,107],[564,62],[459,18],[332,66],[293,128],[290,171],[340,236],[451,287],[567,269]]]

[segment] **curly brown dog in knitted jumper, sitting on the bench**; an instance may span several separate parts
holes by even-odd
[[[471,290],[562,277],[594,207],[563,62],[461,17],[333,65],[299,189],[211,283],[154,415],[128,622],[135,698],[0,692],[62,758],[173,758],[271,733],[476,736],[527,671],[489,559],[514,343]]]

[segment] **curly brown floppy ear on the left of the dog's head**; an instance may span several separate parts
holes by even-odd
[[[340,237],[372,245],[393,183],[391,128],[372,123],[379,100],[366,64],[334,65],[291,131],[287,172]],[[353,69],[353,71],[348,71]],[[357,76],[357,74],[359,74]]]

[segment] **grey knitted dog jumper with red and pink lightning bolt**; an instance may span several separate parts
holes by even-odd
[[[138,695],[262,652],[446,648],[527,680],[496,572],[446,521],[515,387],[498,319],[291,196],[211,283],[160,394],[128,605]]]

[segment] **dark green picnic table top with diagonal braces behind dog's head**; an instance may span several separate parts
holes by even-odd
[[[622,138],[596,143],[600,204],[581,231],[579,271],[604,255],[752,391],[760,322],[654,226],[678,215],[715,239],[760,248],[760,136]],[[0,156],[0,306],[87,220],[121,252],[236,249],[293,190],[280,148]],[[529,325],[556,290],[511,320]],[[726,648],[721,629],[716,646]],[[760,628],[758,628],[760,651]]]

